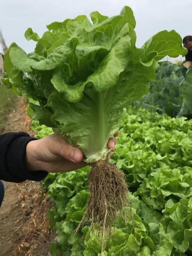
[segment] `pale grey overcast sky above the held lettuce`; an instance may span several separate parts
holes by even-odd
[[[130,6],[136,17],[138,47],[164,29],[174,29],[182,37],[192,34],[192,0],[0,0],[0,27],[8,46],[14,41],[32,52],[35,42],[24,37],[28,27],[41,36],[46,24],[53,21],[89,16],[95,10],[113,16],[124,5]]]

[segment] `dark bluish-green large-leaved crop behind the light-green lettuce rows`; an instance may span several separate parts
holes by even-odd
[[[149,94],[135,104],[169,116],[192,117],[192,69],[184,63],[159,62],[156,81],[151,81]]]

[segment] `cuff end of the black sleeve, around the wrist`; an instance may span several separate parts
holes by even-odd
[[[20,136],[15,139],[7,152],[7,166],[10,173],[15,177],[15,182],[25,180],[41,181],[48,175],[46,171],[31,172],[26,167],[26,145],[35,138]],[[17,151],[15,150],[17,149]]]

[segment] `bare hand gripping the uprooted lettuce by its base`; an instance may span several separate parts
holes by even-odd
[[[109,139],[108,148],[115,149],[116,136]],[[32,140],[26,146],[26,166],[31,171],[48,172],[73,171],[86,166],[83,153],[70,145],[60,133],[56,132],[40,140]]]

